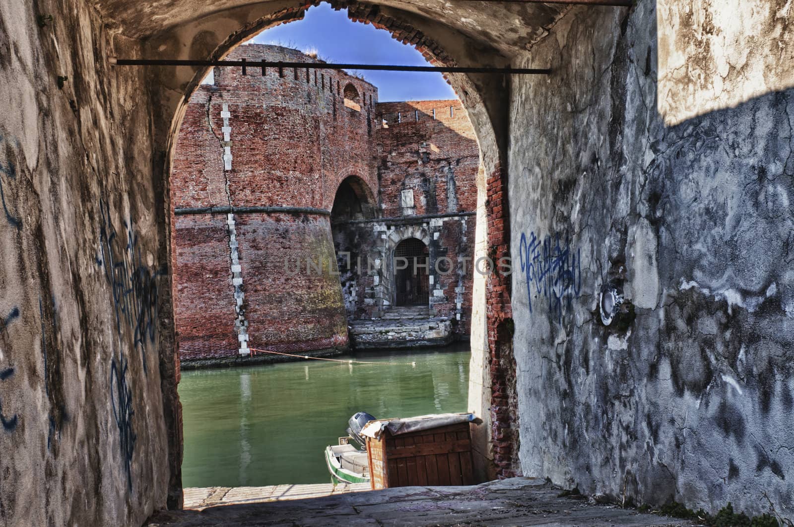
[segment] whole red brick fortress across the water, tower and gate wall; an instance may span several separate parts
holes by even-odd
[[[244,45],[229,58],[318,61],[269,45]],[[349,85],[355,93],[346,103]],[[377,316],[391,304],[395,237],[422,238],[431,261],[471,258],[479,153],[460,103],[379,104],[377,97],[376,87],[345,72],[268,68],[263,76],[258,67],[246,76],[218,68],[214,84],[192,95],[172,170],[184,361],[236,360],[252,347],[345,349],[348,316]],[[413,123],[382,126],[403,107]],[[334,197],[349,176],[368,212],[335,223],[332,232]],[[400,207],[406,189],[413,209]],[[334,242],[345,249],[340,236],[382,263],[348,271],[344,292],[329,271]],[[318,273],[312,265],[320,262]],[[467,266],[467,273],[457,264],[436,273],[430,285],[432,307],[460,320],[461,335],[468,335],[471,312]],[[346,269],[339,270],[344,282]]]

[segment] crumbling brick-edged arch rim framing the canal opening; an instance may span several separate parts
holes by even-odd
[[[177,41],[190,43],[190,33],[193,32],[195,36],[199,33],[206,31],[213,32],[216,38],[202,37],[202,42],[218,42],[217,45],[202,45],[191,46],[187,45],[185,48],[169,48],[164,46],[163,43],[172,38],[171,33],[162,33],[160,37],[152,38],[147,42],[145,48],[146,56],[152,58],[181,58],[190,60],[220,60],[227,56],[229,52],[236,48],[242,41],[248,40],[250,37],[255,36],[264,29],[268,29],[275,25],[291,21],[299,21],[303,18],[305,10],[310,6],[317,6],[321,0],[311,0],[310,2],[299,2],[295,6],[282,8],[279,10],[272,10],[269,2],[263,2],[256,7],[258,14],[261,16],[251,21],[240,21],[239,19],[228,16],[225,11],[218,11],[214,14],[209,14],[202,18],[201,21],[194,21],[191,23],[191,28],[186,29],[185,32],[180,33],[176,38]],[[391,6],[385,12],[381,6],[376,4],[356,2],[349,5],[346,0],[330,0],[329,2],[334,9],[348,9],[348,16],[353,21],[360,21],[363,23],[372,23],[378,29],[385,29],[389,31],[396,40],[403,42],[405,45],[412,45],[422,53],[422,56],[434,65],[447,65],[456,66],[457,60],[447,49],[441,46],[437,41],[434,41],[418,29],[411,21],[424,20],[422,17],[425,15],[415,14],[407,10],[401,10],[398,7]],[[282,4],[283,5],[283,4]],[[231,11],[231,9],[229,9]],[[432,19],[427,18],[427,21]],[[225,34],[222,34],[224,32]],[[187,33],[187,34],[185,34]],[[460,46],[459,46],[460,48]],[[211,49],[211,51],[206,51]],[[181,55],[180,55],[181,53]],[[466,57],[467,64],[472,65],[469,61],[473,60],[477,63],[478,59],[472,59],[471,56],[466,55],[465,48],[461,48],[461,57]],[[494,53],[491,50],[491,53]],[[496,53],[498,54],[498,53]],[[480,64],[482,65],[482,64]],[[153,72],[155,76],[153,85],[156,86],[156,91],[152,93],[152,97],[160,102],[160,114],[170,115],[172,118],[155,120],[154,124],[154,142],[156,144],[165,145],[164,158],[162,159],[161,166],[164,168],[162,192],[164,196],[164,207],[166,211],[166,218],[161,220],[164,224],[164,238],[167,240],[166,246],[168,247],[169,261],[172,260],[172,246],[170,219],[168,212],[171,210],[170,203],[170,168],[171,160],[173,157],[176,138],[179,134],[183,116],[187,109],[191,95],[197,89],[201,80],[206,76],[208,68],[196,68],[191,73],[183,74],[178,72],[176,68],[160,68]],[[482,229],[478,229],[481,234],[478,234],[481,239],[478,239],[477,246],[481,247],[480,252],[485,254],[487,247],[491,247],[489,251],[494,258],[501,258],[509,256],[509,231],[507,226],[507,192],[503,186],[506,184],[503,179],[503,158],[505,158],[505,151],[503,150],[506,144],[507,127],[504,110],[506,108],[506,101],[503,98],[489,96],[486,97],[485,93],[493,91],[497,93],[500,91],[501,78],[483,80],[481,77],[469,76],[468,74],[456,73],[445,75],[447,82],[453,87],[457,95],[461,99],[464,109],[467,111],[468,118],[472,122],[472,126],[476,133],[477,143],[480,148],[480,176],[477,178],[478,188],[478,202],[480,206],[480,213],[478,213],[478,222],[482,223]],[[364,98],[364,92],[362,99]],[[178,95],[182,94],[182,95]],[[345,174],[348,176],[349,174]],[[361,177],[360,175],[358,175]],[[367,180],[366,177],[361,177],[362,180]],[[340,180],[341,181],[341,180]],[[337,183],[338,184],[338,183]],[[497,205],[493,203],[498,203]],[[333,204],[333,202],[331,203]],[[425,234],[425,238],[426,238]],[[420,238],[422,239],[422,238]],[[425,240],[422,240],[425,241]],[[480,255],[482,255],[480,254]],[[175,281],[170,278],[173,285]],[[498,346],[501,342],[499,335],[496,333],[496,327],[502,324],[504,320],[509,320],[511,316],[510,309],[510,281],[509,279],[500,278],[496,275],[488,277],[488,282],[483,281],[478,285],[475,283],[475,289],[480,288],[481,298],[485,299],[488,304],[488,310],[483,308],[475,308],[476,315],[472,315],[472,326],[475,324],[482,327],[482,330],[487,335],[488,347],[478,351],[476,357],[475,349],[472,347],[472,372],[470,376],[473,377],[475,370],[477,376],[482,383],[482,386],[491,386],[491,376],[500,378],[505,375],[499,362]],[[164,302],[171,302],[172,296],[164,299]],[[172,307],[172,306],[171,306]],[[167,309],[164,312],[171,312]],[[488,312],[487,318],[484,313]],[[475,316],[480,316],[480,319],[475,319]],[[181,458],[182,458],[182,429],[181,429],[181,411],[179,407],[179,397],[176,393],[176,385],[179,379],[179,360],[175,356],[177,351],[175,346],[169,346],[168,340],[171,343],[175,342],[173,338],[172,325],[166,327],[165,333],[172,335],[164,341],[164,346],[161,348],[163,351],[160,356],[160,366],[163,372],[163,396],[165,413],[169,416],[168,429],[169,429],[169,465],[171,467],[172,476],[169,482],[168,491],[168,505],[169,507],[179,506],[181,504]],[[472,343],[474,341],[472,340]],[[491,373],[489,373],[489,371]],[[470,378],[471,378],[470,377]],[[473,381],[473,378],[472,378]],[[473,386],[473,385],[472,385]],[[476,388],[480,389],[480,388]],[[483,443],[477,450],[485,455],[487,458],[486,463],[490,463],[488,456],[492,457],[492,444],[491,438],[498,435],[499,429],[504,426],[509,427],[507,424],[502,424],[496,420],[491,424],[491,416],[488,415],[488,403],[484,408],[472,408],[472,410],[480,413],[488,424],[489,432],[486,434],[485,440],[478,439]],[[492,426],[491,426],[492,425]],[[493,428],[492,428],[493,427]],[[491,431],[492,428],[492,431]],[[483,442],[484,441],[484,442]],[[500,445],[497,445],[500,446]],[[490,452],[490,453],[489,453]],[[488,475],[493,475],[493,469],[486,468]]]

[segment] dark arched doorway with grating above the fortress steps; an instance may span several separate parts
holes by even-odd
[[[430,282],[427,276],[427,246],[407,238],[395,247],[395,305],[427,305]]]

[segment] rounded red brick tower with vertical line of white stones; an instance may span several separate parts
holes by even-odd
[[[245,45],[230,59],[315,61],[275,46]],[[377,91],[344,72],[218,68],[188,105],[172,170],[175,211],[186,207],[314,207],[330,211],[337,185],[357,174],[376,188]],[[345,107],[352,83],[360,111]],[[222,114],[224,104],[228,115]],[[224,117],[230,144],[223,137]],[[232,155],[224,170],[224,147]],[[338,277],[306,276],[306,258],[333,258],[324,215],[235,212],[250,347],[312,351],[348,345]],[[234,289],[225,214],[175,216],[176,326],[183,358],[237,355]],[[183,235],[187,234],[187,235]],[[206,238],[206,239],[205,239]],[[212,258],[203,258],[209,251]],[[295,277],[283,259],[300,258]],[[211,277],[211,280],[208,279]],[[201,323],[198,323],[201,321]],[[210,324],[211,323],[211,324]]]

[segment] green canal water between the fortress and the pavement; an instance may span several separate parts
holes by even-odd
[[[469,355],[468,347],[360,352],[344,358],[378,364],[310,360],[183,372],[183,486],[330,482],[323,451],[346,435],[353,413],[464,412]]]

